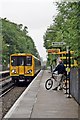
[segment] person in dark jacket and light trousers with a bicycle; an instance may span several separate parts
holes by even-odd
[[[62,60],[59,60],[59,64],[56,66],[56,68],[53,70],[53,73],[57,71],[58,75],[57,76],[57,80],[54,83],[54,89],[53,90],[57,90],[58,86],[60,86],[60,89],[62,89],[62,81],[61,81],[61,77],[63,74],[66,74],[66,68],[62,62]]]

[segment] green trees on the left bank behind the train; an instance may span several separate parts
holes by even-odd
[[[12,23],[6,18],[1,19],[2,23],[2,64],[3,69],[7,69],[10,54],[13,53],[32,53],[36,57],[39,53],[35,47],[33,39],[28,35],[28,28],[22,24]],[[1,37],[0,37],[1,42]],[[37,53],[37,54],[35,54]]]

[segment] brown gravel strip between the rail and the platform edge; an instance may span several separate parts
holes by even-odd
[[[25,89],[25,86],[14,87],[14,89],[2,97],[2,117],[4,117]]]

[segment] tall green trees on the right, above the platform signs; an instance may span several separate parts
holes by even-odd
[[[58,14],[44,35],[44,46],[48,49],[52,42],[66,42],[75,57],[80,56],[80,1],[56,3]],[[61,49],[64,50],[66,46]]]

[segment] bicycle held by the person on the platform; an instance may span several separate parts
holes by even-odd
[[[57,81],[57,78],[56,78],[56,74],[55,73],[52,73],[52,76],[45,82],[45,88],[47,90],[50,90],[54,84],[54,80]],[[61,77],[61,80],[60,80],[60,83],[58,85],[58,87],[62,84],[62,88],[63,89],[68,89],[67,88],[67,81],[66,81],[66,76],[63,74],[62,77]]]

